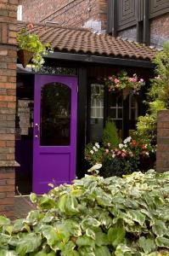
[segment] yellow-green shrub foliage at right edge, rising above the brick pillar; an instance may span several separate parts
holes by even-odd
[[[151,87],[147,94],[148,113],[138,118],[138,137],[149,137],[155,143],[156,122],[159,110],[169,108],[169,42],[164,49],[155,56],[153,61],[155,78],[150,79]]]

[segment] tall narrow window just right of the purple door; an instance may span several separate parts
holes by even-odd
[[[90,141],[102,140],[104,129],[104,85],[91,84]]]

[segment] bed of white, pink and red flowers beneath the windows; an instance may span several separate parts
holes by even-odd
[[[132,139],[127,137],[123,143],[116,147],[110,143],[99,145],[99,143],[89,143],[85,151],[85,159],[93,166],[102,164],[100,174],[103,177],[112,175],[121,176],[136,172],[138,170],[147,171],[152,166],[142,166],[141,163],[155,160],[155,147],[152,147],[148,139]],[[145,168],[144,168],[145,167]]]

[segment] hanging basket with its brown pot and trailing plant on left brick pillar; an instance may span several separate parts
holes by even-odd
[[[38,35],[31,32],[32,24],[23,28],[17,35],[18,57],[23,67],[32,61],[36,70],[39,70],[44,63],[42,55],[46,55],[50,50],[49,44],[42,44]]]

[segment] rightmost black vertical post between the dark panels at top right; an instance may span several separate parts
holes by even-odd
[[[144,44],[150,44],[149,1],[144,0]]]

